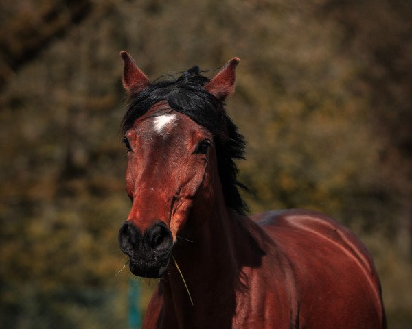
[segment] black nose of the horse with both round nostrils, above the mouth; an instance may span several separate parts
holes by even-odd
[[[170,251],[172,245],[172,232],[162,221],[148,228],[144,234],[141,234],[130,221],[126,221],[119,231],[120,249],[128,256],[132,256],[133,252],[141,248],[164,254]]]

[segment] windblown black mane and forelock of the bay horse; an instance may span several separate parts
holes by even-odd
[[[177,79],[169,77],[150,84],[131,96],[130,106],[122,121],[122,130],[126,132],[138,117],[160,101],[167,101],[171,108],[205,127],[214,136],[225,203],[244,215],[247,204],[240,197],[238,187],[247,188],[238,182],[238,167],[233,161],[244,159],[244,138],[227,115],[222,101],[203,88],[207,82],[209,78],[201,75],[198,66],[194,66]]]

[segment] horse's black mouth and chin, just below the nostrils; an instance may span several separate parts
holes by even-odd
[[[150,261],[130,256],[130,272],[143,278],[161,278],[168,268],[170,255],[171,252],[168,252]]]

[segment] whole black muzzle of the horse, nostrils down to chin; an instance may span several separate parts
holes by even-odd
[[[130,257],[130,271],[135,276],[161,278],[172,254],[172,232],[162,221],[144,233],[126,221],[119,231],[119,246]]]

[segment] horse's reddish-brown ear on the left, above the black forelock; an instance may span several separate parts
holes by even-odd
[[[150,85],[148,77],[137,67],[133,57],[126,51],[120,51],[124,63],[123,86],[130,93],[139,93],[140,90]]]

